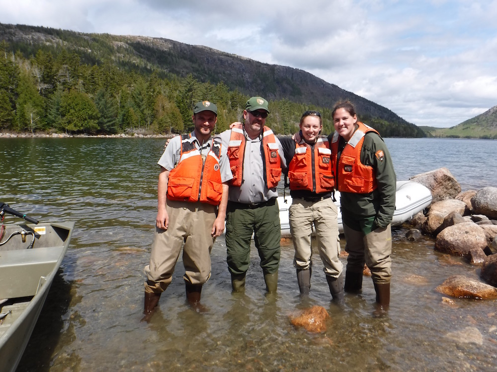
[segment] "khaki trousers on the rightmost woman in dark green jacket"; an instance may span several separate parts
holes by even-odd
[[[392,277],[392,230],[391,225],[376,228],[364,235],[343,224],[345,251],[348,253],[347,270],[362,272],[364,263],[371,270],[374,283],[390,283]]]

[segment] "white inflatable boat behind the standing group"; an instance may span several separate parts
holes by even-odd
[[[340,192],[335,191],[335,204],[338,207],[338,230],[343,233],[343,224],[340,214]],[[422,211],[431,204],[431,191],[424,185],[414,181],[397,181],[395,193],[395,211],[392,226],[402,225],[404,222]],[[278,196],[281,237],[290,237],[290,221],[288,208],[292,205],[292,197]]]

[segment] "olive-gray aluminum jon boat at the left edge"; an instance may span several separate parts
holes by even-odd
[[[15,371],[66,254],[74,222],[2,225],[0,232],[0,372]],[[14,212],[14,213],[12,213]]]

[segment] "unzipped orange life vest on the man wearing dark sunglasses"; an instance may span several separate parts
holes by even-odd
[[[234,125],[231,129],[230,143],[228,145],[228,158],[230,159],[233,186],[242,186],[244,174],[245,133],[241,124]],[[264,182],[267,188],[278,185],[281,179],[281,159],[278,153],[276,137],[271,129],[264,125],[262,129],[262,149],[264,157]]]

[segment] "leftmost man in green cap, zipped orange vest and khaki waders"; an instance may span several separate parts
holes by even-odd
[[[213,141],[217,107],[209,101],[193,108],[194,130],[172,138],[159,160],[156,231],[145,266],[145,320],[171,283],[183,246],[183,279],[188,304],[196,311],[202,285],[211,275],[210,252],[224,231],[228,181],[232,179],[226,148]]]

